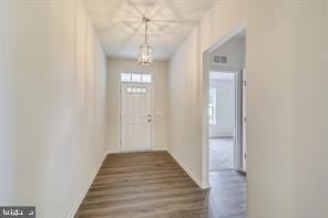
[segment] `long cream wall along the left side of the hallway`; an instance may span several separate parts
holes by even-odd
[[[80,0],[0,10],[0,205],[72,216],[105,155],[105,55]]]

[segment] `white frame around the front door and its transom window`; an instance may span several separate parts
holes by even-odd
[[[125,73],[125,72],[121,72],[121,73]],[[121,82],[121,73],[119,76],[119,153],[131,153],[131,152],[146,152],[146,150],[131,150],[131,152],[125,152],[122,150],[122,123],[121,123],[121,117],[122,117],[122,83],[125,82]],[[130,73],[130,72],[127,72]],[[155,122],[156,122],[156,116],[154,113],[154,108],[155,108],[155,87],[154,87],[154,77],[153,77],[153,73],[148,73],[148,72],[133,72],[133,73],[140,73],[140,74],[151,74],[152,75],[152,82],[151,83],[146,83],[151,86],[151,115],[152,115],[152,124],[151,124],[151,149],[150,150],[154,150],[154,132],[155,132]],[[133,84],[143,84],[143,83],[129,83],[131,85]]]

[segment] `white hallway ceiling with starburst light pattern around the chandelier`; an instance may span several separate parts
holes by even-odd
[[[107,56],[135,59],[151,19],[154,60],[168,60],[214,0],[83,0]]]

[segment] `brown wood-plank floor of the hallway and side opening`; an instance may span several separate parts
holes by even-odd
[[[76,218],[246,218],[246,178],[211,173],[202,190],[166,152],[109,155]]]

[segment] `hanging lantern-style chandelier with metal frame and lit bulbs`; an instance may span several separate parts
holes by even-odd
[[[153,64],[153,48],[147,44],[147,31],[148,25],[147,23],[151,21],[148,18],[143,18],[142,21],[145,24],[145,42],[139,48],[137,52],[137,64],[144,66],[151,66]]]

